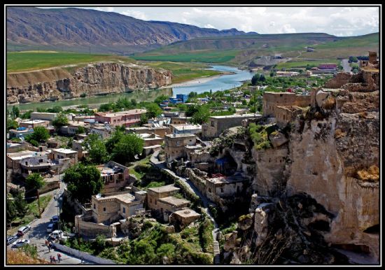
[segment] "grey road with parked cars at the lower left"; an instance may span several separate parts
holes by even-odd
[[[62,206],[62,194],[64,191],[65,184],[60,183],[60,187],[57,190],[52,191],[53,194],[59,194],[59,198],[56,199],[55,196],[48,203],[48,206],[45,208],[44,212],[41,215],[41,218],[38,218],[32,221],[29,225],[31,229],[29,232],[23,236],[23,239],[29,239],[31,241],[31,245],[37,247],[38,257],[50,262],[50,256],[57,257],[57,250],[50,250],[48,252],[48,247],[45,246],[45,239],[48,237],[48,232],[46,232],[47,226],[50,223],[50,219],[53,215],[57,215],[57,205]],[[12,245],[8,246],[10,248]],[[81,260],[77,257],[73,257],[72,255],[59,252],[62,255],[62,262],[59,264],[80,264]],[[90,262],[85,262],[85,264],[92,264]]]

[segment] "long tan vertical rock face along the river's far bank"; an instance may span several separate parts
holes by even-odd
[[[38,82],[32,80],[28,72],[7,74],[7,103],[70,99],[80,97],[80,94],[92,96],[132,92],[154,89],[172,83],[171,71],[117,63],[89,64],[72,74],[61,73],[59,76],[57,74],[40,77],[37,75],[34,74],[35,80],[36,78],[43,78],[43,80]]]

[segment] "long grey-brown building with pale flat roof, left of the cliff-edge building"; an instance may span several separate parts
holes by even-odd
[[[225,129],[241,126],[242,120],[260,117],[260,115],[223,115],[211,116],[207,124],[202,125],[202,138],[217,138]]]

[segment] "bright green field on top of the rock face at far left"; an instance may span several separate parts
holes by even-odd
[[[117,55],[89,55],[75,52],[7,52],[7,72],[48,69],[54,66],[80,65],[90,62],[134,62],[129,57]]]

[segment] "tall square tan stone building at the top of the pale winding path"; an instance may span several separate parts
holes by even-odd
[[[197,137],[194,134],[167,134],[165,136],[166,162],[186,158],[186,145],[196,145],[196,143]]]

